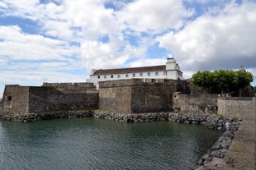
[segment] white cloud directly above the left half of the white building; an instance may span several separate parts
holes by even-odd
[[[120,67],[127,60],[145,53],[143,48],[134,48],[121,39],[111,39],[108,43],[84,41],[81,44],[83,65],[88,69]]]

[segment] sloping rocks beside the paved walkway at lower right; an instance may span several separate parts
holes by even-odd
[[[240,121],[232,119],[230,122],[230,128],[220,136],[219,140],[208,149],[206,154],[197,163],[196,170],[218,170],[225,167],[225,156],[230,148],[232,140],[235,137],[236,132],[239,129]]]

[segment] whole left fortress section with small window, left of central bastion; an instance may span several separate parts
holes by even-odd
[[[34,113],[95,109],[97,104],[98,92],[91,83],[45,83],[42,86],[6,85],[1,110]]]

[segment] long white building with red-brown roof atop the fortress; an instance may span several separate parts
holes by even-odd
[[[174,57],[168,57],[166,65],[152,67],[130,67],[106,70],[92,69],[88,82],[93,82],[98,89],[99,81],[121,79],[173,79],[183,80],[183,72],[180,70]]]

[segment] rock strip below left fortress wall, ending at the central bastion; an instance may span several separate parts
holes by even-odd
[[[12,122],[34,122],[55,118],[92,117],[91,111],[61,111],[47,113],[0,113],[0,120]]]

